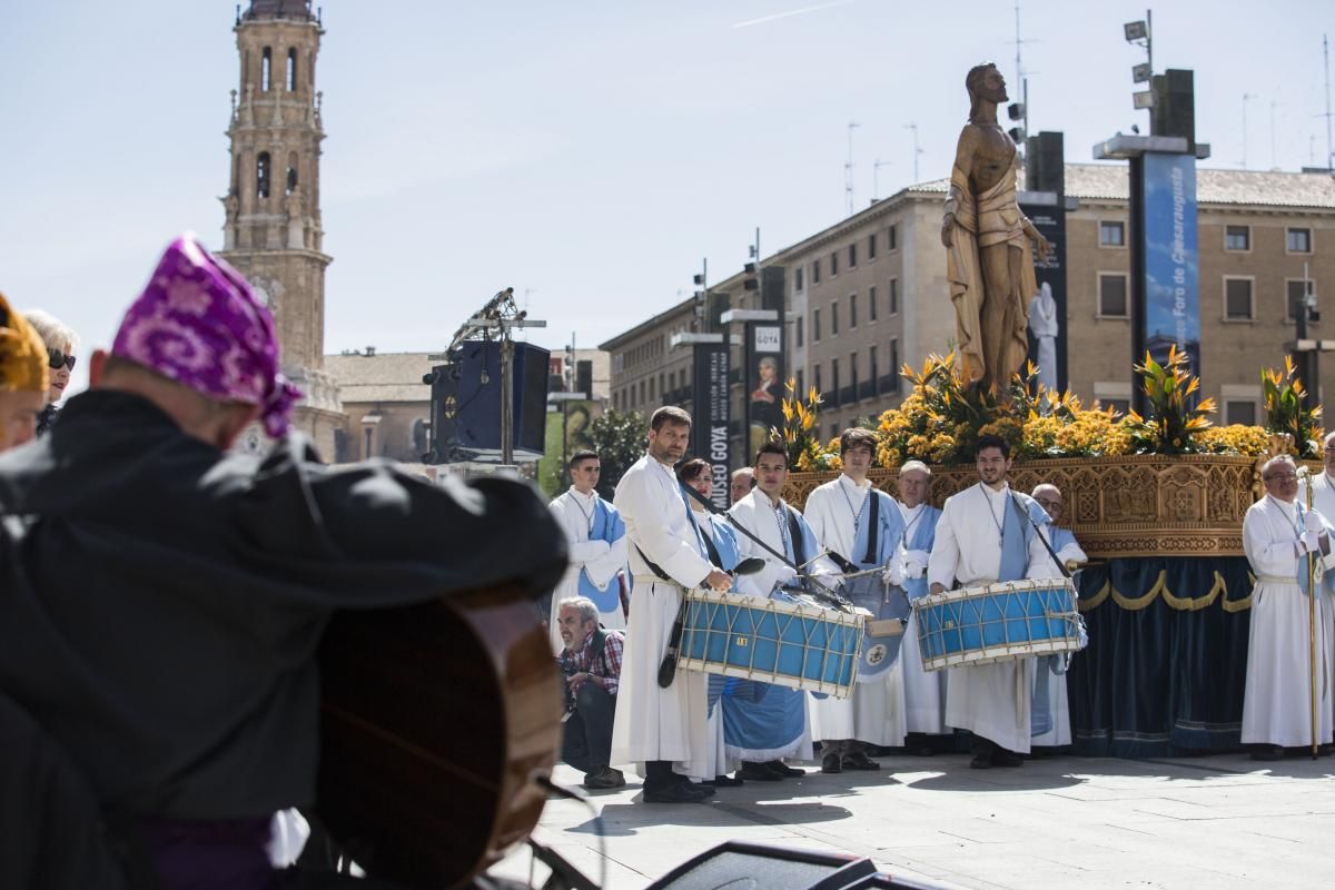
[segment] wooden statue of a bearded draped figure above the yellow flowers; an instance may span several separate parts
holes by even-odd
[[[1016,203],[1017,152],[997,123],[997,104],[1008,100],[1005,79],[985,61],[964,85],[969,123],[955,152],[941,243],[960,370],[969,383],[1005,398],[1029,351],[1029,298],[1039,290],[1029,239],[1040,259],[1051,246]]]

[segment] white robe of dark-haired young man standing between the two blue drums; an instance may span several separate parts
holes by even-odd
[[[861,486],[849,476],[840,474],[838,479],[817,487],[806,498],[806,522],[816,532],[821,547],[832,550],[845,559],[853,559],[853,543],[857,530],[853,526],[854,511],[861,512],[862,502],[873,491],[870,480]],[[897,542],[890,558],[904,564],[904,542]],[[872,683],[856,683],[849,698],[833,695],[820,699],[813,709],[818,739],[832,742],[856,739],[870,745],[898,747],[904,745],[904,652],[885,677]]]

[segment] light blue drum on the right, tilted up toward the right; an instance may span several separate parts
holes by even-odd
[[[948,590],[913,600],[922,669],[1012,662],[1077,651],[1085,639],[1065,578]]]

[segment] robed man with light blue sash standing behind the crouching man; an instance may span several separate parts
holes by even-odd
[[[583,596],[598,607],[598,623],[606,630],[625,630],[626,614],[621,608],[621,571],[626,566],[626,528],[615,507],[598,496],[595,486],[602,462],[589,450],[570,458],[570,490],[557,495],[551,512],[566,530],[570,542],[570,568],[562,575],[551,595],[547,627],[551,644],[559,655],[559,603]]]

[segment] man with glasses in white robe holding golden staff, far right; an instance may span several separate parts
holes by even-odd
[[[1247,510],[1243,548],[1256,575],[1252,588],[1247,691],[1242,741],[1252,758],[1279,761],[1286,747],[1311,745],[1311,663],[1308,603],[1318,595],[1316,620],[1316,739],[1331,742],[1331,666],[1335,664],[1335,604],[1316,580],[1308,590],[1308,556],[1324,574],[1335,567],[1331,527],[1316,510],[1298,500],[1298,468],[1279,455],[1262,467],[1266,496]]]

